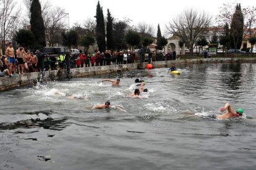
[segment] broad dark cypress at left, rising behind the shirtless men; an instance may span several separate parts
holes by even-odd
[[[41,13],[41,4],[39,0],[33,0],[30,7],[31,19],[30,26],[33,35],[35,36],[35,48],[43,49],[46,46],[45,41],[45,25]]]

